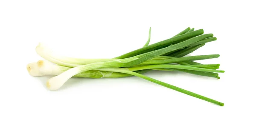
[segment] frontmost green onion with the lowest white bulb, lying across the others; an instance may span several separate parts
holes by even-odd
[[[192,32],[190,32],[190,33],[192,33]],[[182,36],[182,35],[180,35],[180,36]],[[91,64],[87,64],[87,65],[77,66],[75,68],[72,68],[70,70],[65,71],[62,74],[59,74],[58,76],[55,76],[55,77],[52,77],[51,79],[49,79],[48,82],[47,82],[47,87],[50,90],[57,90],[64,83],[66,83],[66,81],[68,79],[70,79],[74,75],[79,74],[83,71],[99,69],[99,68],[119,68],[119,67],[125,67],[125,66],[127,66],[127,67],[128,66],[134,66],[134,65],[143,63],[146,60],[150,60],[154,57],[165,54],[169,51],[173,51],[173,50],[176,50],[176,49],[183,48],[185,46],[188,46],[189,44],[195,43],[197,41],[200,41],[200,40],[203,40],[205,38],[212,37],[212,36],[213,36],[213,34],[204,34],[204,35],[200,35],[198,37],[193,37],[189,40],[183,41],[181,43],[177,43],[176,45],[168,46],[166,48],[162,48],[162,49],[159,49],[157,51],[153,51],[153,52],[151,52],[147,55],[144,55],[140,58],[135,58],[135,59],[127,58],[127,59],[113,60],[113,61],[100,62],[100,63],[91,63]],[[41,50],[44,50],[44,48],[41,48],[40,46],[37,47],[37,48],[38,48],[37,51],[39,53],[43,52]],[[146,47],[144,47],[144,48],[146,48]],[[49,53],[45,53],[43,55],[46,55],[46,57],[47,57],[48,56],[47,54],[49,54]]]

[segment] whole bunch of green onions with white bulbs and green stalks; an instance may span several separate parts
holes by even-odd
[[[206,43],[216,40],[213,34],[204,34],[203,29],[194,31],[187,28],[172,38],[148,45],[151,37],[142,48],[111,59],[81,59],[58,55],[47,46],[39,43],[36,52],[45,60],[29,63],[27,70],[32,76],[57,75],[50,78],[46,85],[49,90],[58,90],[71,77],[84,78],[120,78],[137,76],[153,83],[171,88],[192,97],[223,106],[224,103],[195,94],[176,86],[147,77],[144,74],[151,70],[181,71],[220,79],[217,70],[220,64],[201,64],[195,60],[218,58],[218,54],[186,56],[201,48]]]

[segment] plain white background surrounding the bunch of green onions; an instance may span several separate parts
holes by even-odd
[[[255,134],[255,4],[214,1],[0,1],[1,134]],[[225,103],[224,107],[137,77],[31,77],[43,42],[71,57],[112,58],[166,40],[188,26],[213,33],[191,55],[220,54],[221,79],[178,72],[146,75]],[[254,128],[253,128],[254,127]]]

